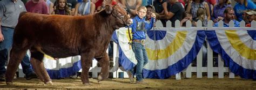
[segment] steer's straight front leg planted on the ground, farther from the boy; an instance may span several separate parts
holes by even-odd
[[[82,64],[82,75],[81,79],[84,85],[90,85],[89,81],[89,69],[92,64],[92,53],[86,53],[81,55],[81,64]]]

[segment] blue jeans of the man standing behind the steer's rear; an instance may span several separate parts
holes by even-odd
[[[12,36],[14,35],[14,29],[2,27],[2,34],[4,36],[4,41],[0,42],[0,76],[4,75],[6,72],[4,66],[7,63],[8,51],[10,51],[10,48],[12,46]],[[29,59],[29,56],[25,55],[21,62],[23,73],[26,75],[32,73],[32,68]]]

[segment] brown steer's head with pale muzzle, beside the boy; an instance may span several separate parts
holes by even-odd
[[[126,10],[119,5],[114,5],[113,7],[106,5],[105,11],[107,14],[111,14],[118,27],[124,27],[132,24],[132,19],[128,16]]]

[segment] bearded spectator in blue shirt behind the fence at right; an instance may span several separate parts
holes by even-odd
[[[234,10],[232,9],[232,7],[226,7],[226,9],[224,10],[224,19],[223,19],[223,26],[224,27],[229,27],[229,22],[231,20],[234,21],[234,26],[235,27],[240,27],[240,23],[237,20],[234,20]],[[216,22],[214,25],[214,27],[218,27],[218,22]]]

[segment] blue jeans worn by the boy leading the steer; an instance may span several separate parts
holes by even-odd
[[[132,50],[138,62],[136,65],[136,80],[142,81],[143,67],[147,64],[147,62],[149,62],[149,59],[147,58],[147,52],[145,50],[144,45],[139,42],[132,42]]]

